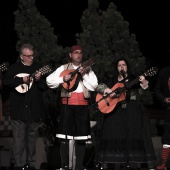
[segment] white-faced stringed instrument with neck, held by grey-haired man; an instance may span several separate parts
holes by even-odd
[[[51,68],[49,67],[49,65],[46,65],[42,68],[40,68],[38,71],[36,71],[35,73],[33,73],[31,76],[30,74],[27,74],[27,73],[20,73],[20,74],[17,74],[15,77],[25,77],[25,76],[30,76],[30,82],[29,84],[26,84],[26,83],[23,83],[23,84],[20,84],[19,86],[15,87],[15,89],[19,92],[19,93],[25,93],[28,91],[28,89],[30,89],[32,87],[32,84],[33,84],[33,80],[34,80],[34,76],[37,72],[40,72],[41,75],[45,75],[49,72],[51,72]]]

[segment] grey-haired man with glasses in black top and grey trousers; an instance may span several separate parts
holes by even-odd
[[[20,61],[12,64],[4,75],[4,85],[11,89],[14,166],[16,170],[23,170],[35,168],[38,126],[45,112],[43,92],[48,86],[45,77],[39,72],[42,65],[34,61],[31,44],[21,45],[19,58]],[[21,87],[21,91],[18,87]]]

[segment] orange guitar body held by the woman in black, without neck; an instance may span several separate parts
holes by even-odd
[[[123,87],[124,87],[124,84],[123,84],[123,83],[116,83],[116,84],[111,88],[111,90],[112,90],[112,91],[115,91],[116,89],[118,89],[118,88],[123,88]],[[112,97],[112,98],[111,98],[110,96],[108,96],[106,99],[103,99],[103,100],[101,100],[101,101],[98,103],[98,109],[99,109],[102,113],[108,114],[108,113],[110,113],[110,112],[116,107],[117,103],[120,102],[120,101],[122,101],[122,100],[124,100],[125,97],[126,97],[125,91],[121,92],[119,97],[115,96],[115,97]],[[98,93],[98,94],[96,95],[96,101],[99,101],[101,98],[103,98],[103,95]],[[107,103],[109,104],[109,106],[108,106]]]

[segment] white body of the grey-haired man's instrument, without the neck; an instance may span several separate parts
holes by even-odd
[[[29,75],[30,74],[27,74],[27,73],[20,73],[20,74],[17,74],[16,77],[25,77]],[[30,80],[29,87],[28,87],[28,84],[24,83],[24,84],[20,84],[19,86],[15,87],[15,89],[20,93],[25,93],[28,91],[28,88],[29,89],[31,88],[32,83],[33,83],[33,79]]]

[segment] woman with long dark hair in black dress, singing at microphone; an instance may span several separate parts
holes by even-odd
[[[139,76],[138,83],[131,87],[130,82],[136,77],[131,74],[128,62],[123,58],[115,62],[114,69],[111,82],[99,84],[96,90],[103,95],[109,94],[114,100],[116,91],[111,93],[112,86],[122,83],[125,97],[110,113],[104,115],[96,147],[96,169],[137,169],[141,168],[142,163],[147,163],[151,169],[155,166],[155,153],[149,120],[140,103],[140,95],[148,88],[148,81],[144,76]],[[116,95],[121,97],[121,93],[117,92]]]

